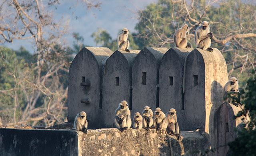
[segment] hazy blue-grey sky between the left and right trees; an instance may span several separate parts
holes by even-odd
[[[122,28],[128,28],[130,32],[136,32],[135,26],[138,22],[135,12],[144,9],[150,3],[156,3],[158,0],[94,0],[101,2],[101,9],[87,10],[82,2],[78,6],[76,1],[60,0],[60,5],[54,12],[56,20],[64,18],[69,21],[68,34],[63,40],[67,46],[72,46],[74,39],[72,32],[79,32],[84,38],[84,44],[89,46],[100,46],[94,43],[91,37],[97,28],[102,28],[110,33],[112,39],[117,38]],[[72,9],[69,9],[72,7]],[[75,13],[73,13],[75,11]],[[76,18],[76,16],[78,18]],[[31,54],[35,49],[32,47],[32,40],[14,40],[13,43],[4,43],[4,46],[18,50],[24,46]]]

